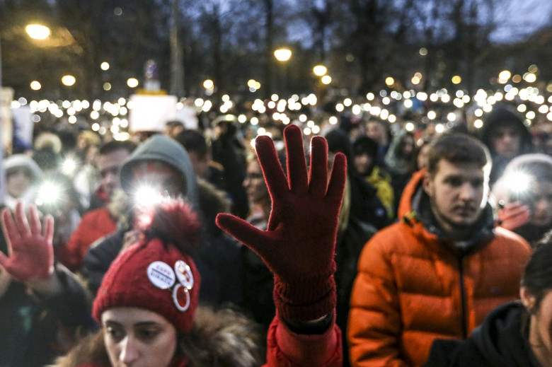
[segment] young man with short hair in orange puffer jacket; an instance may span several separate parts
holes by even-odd
[[[432,142],[398,223],[364,246],[347,337],[352,366],[421,366],[437,338],[466,338],[517,298],[529,245],[495,226],[490,155],[466,134]]]

